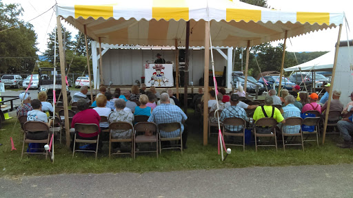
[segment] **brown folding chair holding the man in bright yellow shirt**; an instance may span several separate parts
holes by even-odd
[[[277,136],[276,136],[276,124],[277,121],[274,120],[274,118],[260,118],[259,120],[256,120],[255,122],[255,127],[252,133],[254,133],[255,136],[255,150],[257,152],[257,146],[276,146],[276,151],[277,151]],[[259,127],[269,127],[271,128],[272,133],[256,133],[256,126]],[[257,145],[257,137],[274,137],[274,145]]]

